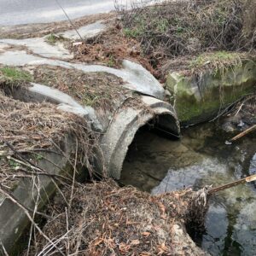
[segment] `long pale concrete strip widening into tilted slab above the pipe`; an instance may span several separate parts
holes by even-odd
[[[79,63],[71,63],[66,61],[58,61],[41,58],[35,55],[28,55],[24,50],[6,51],[0,54],[0,63],[9,66],[30,66],[30,65],[51,65],[66,68],[76,68],[84,73],[91,72],[106,72],[111,73],[121,79],[126,84],[122,85],[125,88],[140,92],[148,96],[154,96],[158,99],[164,99],[165,90],[154,76],[149,73],[141,65],[123,61],[122,69],[115,69],[101,65],[84,65]]]

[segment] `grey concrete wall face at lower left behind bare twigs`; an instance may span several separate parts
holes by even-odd
[[[62,150],[69,157],[75,152],[75,140],[73,140],[73,137],[66,137],[63,143],[65,147]],[[70,162],[61,152],[58,153],[42,153],[44,160],[38,162],[38,167],[50,174],[67,176],[71,168]],[[47,204],[50,196],[55,193],[56,184],[51,177],[44,175],[38,175],[35,182],[38,188],[34,186],[31,178],[21,179],[13,195],[22,206],[32,210],[38,200],[37,211],[40,211],[40,208]],[[32,212],[30,214],[32,215]],[[2,245],[0,244],[0,255],[3,253],[2,246],[9,255],[19,255],[17,250],[19,250],[20,237],[24,236],[24,232],[30,224],[31,222],[23,209],[10,201],[9,198],[3,199],[0,204],[0,241],[2,243]]]

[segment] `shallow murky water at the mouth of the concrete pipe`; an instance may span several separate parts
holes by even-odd
[[[121,183],[153,194],[230,183],[256,172],[256,137],[226,145],[216,125],[190,127],[180,141],[139,131],[131,144]],[[212,255],[256,255],[256,189],[239,185],[212,197],[206,232],[193,234]]]

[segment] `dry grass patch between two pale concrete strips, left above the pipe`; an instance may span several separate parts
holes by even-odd
[[[114,102],[128,94],[122,79],[108,73],[83,73],[63,67],[40,66],[33,68],[35,83],[61,90],[82,105],[112,110]]]

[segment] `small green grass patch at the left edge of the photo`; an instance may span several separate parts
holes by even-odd
[[[23,84],[32,82],[32,75],[15,67],[0,67],[0,83]]]

